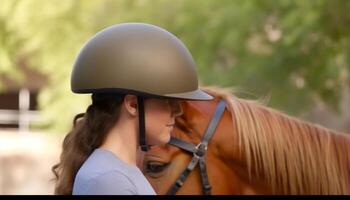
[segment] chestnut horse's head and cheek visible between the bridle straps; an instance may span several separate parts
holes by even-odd
[[[199,144],[218,102],[219,99],[183,102],[184,113],[176,119],[172,136],[189,144]],[[234,154],[238,154],[238,149],[232,122],[230,112],[225,109],[209,140],[205,163],[212,194],[254,193],[247,184],[243,167],[233,159]],[[192,159],[192,153],[173,145],[153,147],[145,155],[143,172],[158,194],[166,194]],[[201,173],[206,172],[201,172],[198,162],[177,194],[203,194]]]

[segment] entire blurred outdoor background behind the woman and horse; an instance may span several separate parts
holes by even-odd
[[[201,85],[350,133],[349,13],[347,0],[1,0],[0,194],[53,194],[50,168],[90,103],[70,91],[72,65],[117,23],[175,34]]]

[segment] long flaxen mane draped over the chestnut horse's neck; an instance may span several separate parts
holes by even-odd
[[[350,135],[240,99],[230,89],[202,89],[227,101],[250,178],[260,174],[274,193],[350,194]]]

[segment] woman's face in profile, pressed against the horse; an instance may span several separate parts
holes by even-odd
[[[145,101],[147,143],[161,145],[169,142],[175,117],[181,114],[182,108],[178,100],[147,99]]]

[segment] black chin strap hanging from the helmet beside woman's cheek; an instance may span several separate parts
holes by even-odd
[[[142,151],[148,151],[150,149],[149,145],[146,143],[146,128],[145,128],[145,108],[144,108],[144,98],[137,97],[137,107],[139,112],[139,140],[140,147]]]

